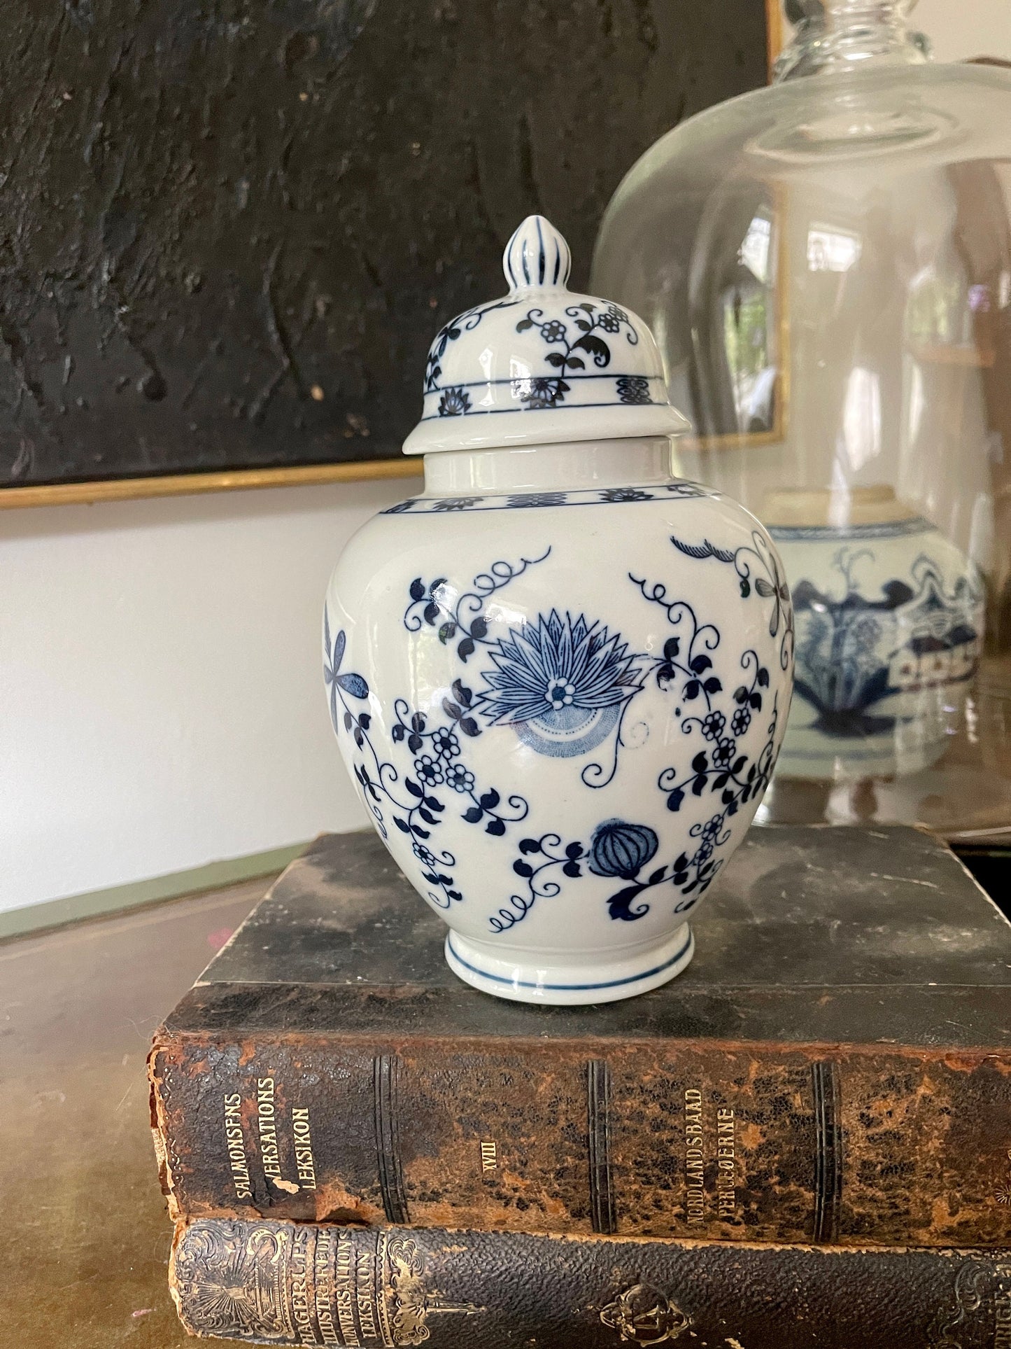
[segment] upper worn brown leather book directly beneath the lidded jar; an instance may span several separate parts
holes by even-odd
[[[929,835],[752,830],[627,1002],[443,935],[371,834],[288,867],[155,1036],[175,1217],[1011,1245],[1011,925]]]

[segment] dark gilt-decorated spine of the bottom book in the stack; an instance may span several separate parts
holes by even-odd
[[[197,1218],[170,1287],[190,1334],[271,1345],[1011,1345],[1008,1252]]]

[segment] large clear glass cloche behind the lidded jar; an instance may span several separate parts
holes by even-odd
[[[797,683],[767,822],[1011,839],[1011,73],[806,0],[768,89],[632,167],[593,287],[770,529]]]

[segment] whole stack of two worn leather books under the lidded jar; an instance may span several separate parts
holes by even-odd
[[[155,1036],[186,1327],[266,1344],[1011,1345],[1011,925],[910,828],[754,830],[671,983],[460,983],[373,835]]]

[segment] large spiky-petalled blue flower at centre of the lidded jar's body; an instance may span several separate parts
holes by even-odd
[[[512,726],[538,754],[570,758],[600,745],[643,679],[619,633],[580,614],[511,629],[492,650],[477,707],[491,726]]]

